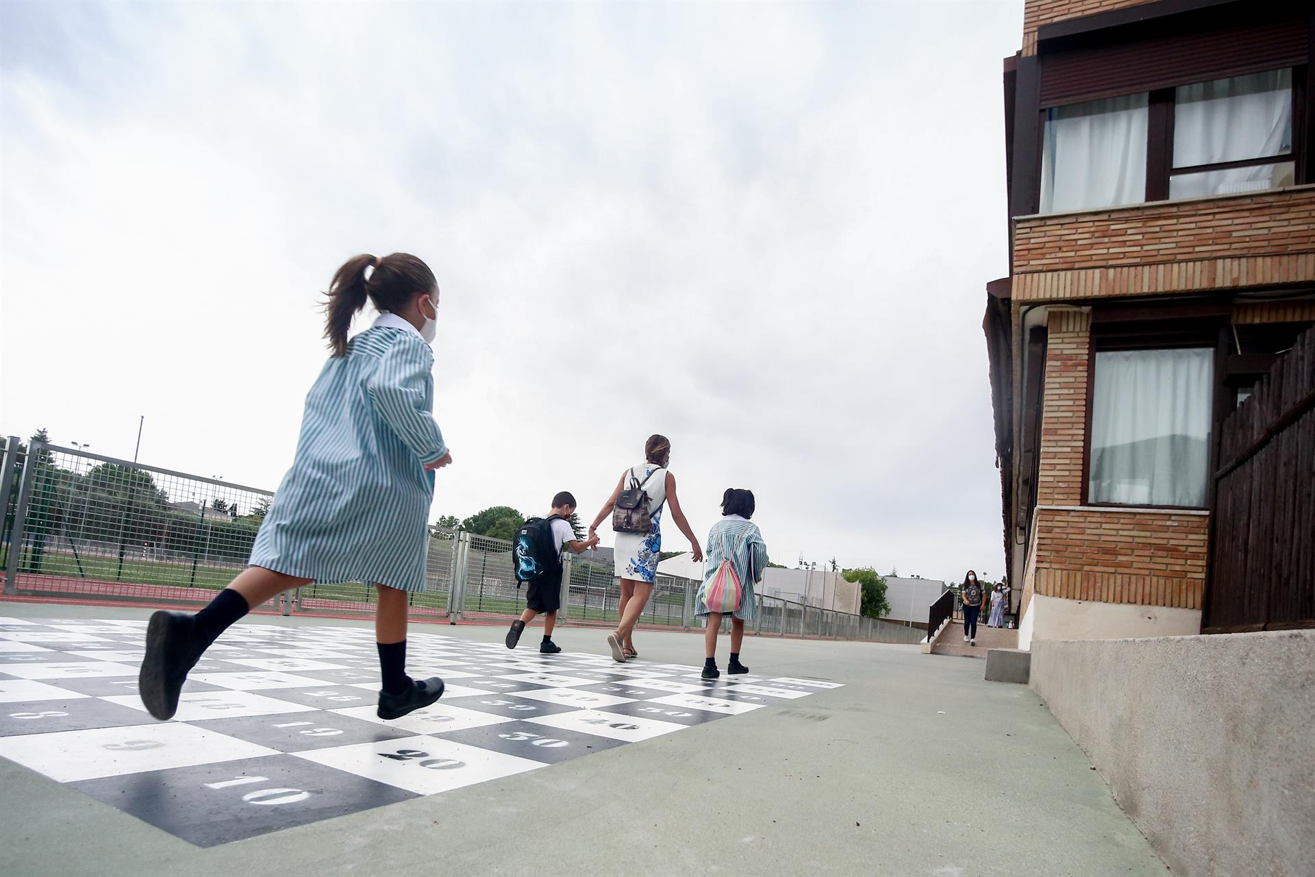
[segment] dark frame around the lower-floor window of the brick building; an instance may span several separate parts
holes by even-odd
[[[1212,310],[1212,309],[1211,309]],[[1166,511],[1208,511],[1214,501],[1211,475],[1214,472],[1214,447],[1218,438],[1218,400],[1216,393],[1210,394],[1211,433],[1208,440],[1208,454],[1206,455],[1206,501],[1203,505],[1156,505],[1151,502],[1094,502],[1091,500],[1091,414],[1095,402],[1095,354],[1114,350],[1202,350],[1215,351],[1216,373],[1211,376],[1211,387],[1218,388],[1218,351],[1220,317],[1214,314],[1205,318],[1187,318],[1162,321],[1122,323],[1115,321],[1099,321],[1101,312],[1093,317],[1091,330],[1088,334],[1086,348],[1086,413],[1082,427],[1082,505],[1095,509],[1152,509]],[[1170,329],[1170,325],[1177,323]],[[1186,323],[1184,326],[1184,323]]]

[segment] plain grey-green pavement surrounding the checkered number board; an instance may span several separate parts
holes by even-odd
[[[0,604],[0,615],[143,618]],[[289,623],[249,617],[251,623]],[[299,617],[291,623],[350,625]],[[500,627],[426,626],[497,642]],[[529,631],[527,636],[535,631]],[[604,631],[560,628],[606,653]],[[702,636],[636,635],[698,663]],[[721,643],[726,659],[726,639]],[[200,849],[0,760],[0,872],[43,874],[1166,874],[1045,706],[914,646],[748,638],[753,673],[844,682],[573,761]]]

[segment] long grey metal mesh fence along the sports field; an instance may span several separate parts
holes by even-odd
[[[0,569],[5,594],[200,604],[246,565],[274,494],[118,460],[85,450],[9,437],[0,444]],[[564,559],[559,623],[615,623],[619,581],[588,555]],[[700,627],[697,581],[659,576],[640,623]],[[510,618],[525,606],[512,543],[430,529],[426,588],[409,594],[418,618]],[[759,597],[753,632],[777,636],[917,643],[903,625]],[[283,602],[291,611],[372,611],[362,582],[314,582]],[[729,622],[727,622],[729,623]]]

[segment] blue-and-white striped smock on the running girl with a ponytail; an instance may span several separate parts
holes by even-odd
[[[292,468],[250,564],[317,581],[425,589],[434,473],[434,352],[409,322],[380,314],[306,396]]]

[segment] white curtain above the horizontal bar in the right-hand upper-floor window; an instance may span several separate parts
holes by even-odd
[[[1291,151],[1291,70],[1216,79],[1177,89],[1174,167],[1244,162]]]

